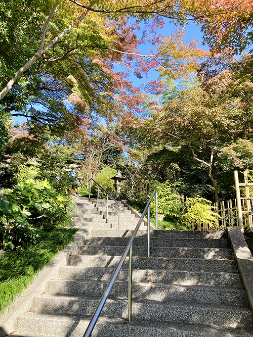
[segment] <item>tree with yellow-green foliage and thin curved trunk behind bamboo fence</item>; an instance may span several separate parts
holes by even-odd
[[[218,203],[218,184],[213,169],[217,167],[217,154],[224,146],[247,137],[251,131],[252,114],[246,111],[243,100],[232,96],[232,74],[223,71],[209,80],[205,87],[177,92],[163,107],[153,112],[157,136],[163,142],[187,147],[192,158],[208,169]]]

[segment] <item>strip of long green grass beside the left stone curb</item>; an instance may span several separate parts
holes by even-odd
[[[34,275],[74,240],[76,228],[48,224],[41,228],[39,243],[6,251],[0,257],[0,316],[29,285]]]

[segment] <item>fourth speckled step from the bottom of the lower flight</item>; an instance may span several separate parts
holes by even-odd
[[[113,268],[106,267],[66,266],[61,268],[60,278],[109,281],[113,272]],[[117,280],[125,281],[128,279],[128,273],[128,269],[121,269],[117,276]],[[232,272],[133,269],[133,281],[242,288],[241,275]]]

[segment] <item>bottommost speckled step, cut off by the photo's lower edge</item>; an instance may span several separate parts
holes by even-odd
[[[20,319],[18,328],[25,333],[13,333],[15,337],[82,337],[90,316],[50,316],[28,313],[28,318]],[[29,324],[26,326],[26,321]],[[34,324],[40,323],[36,330]],[[93,337],[252,337],[247,328],[225,328],[202,324],[158,322],[156,320],[134,320],[131,324],[122,318],[101,317],[93,330]],[[51,330],[50,330],[51,329]],[[54,331],[54,332],[53,332]]]

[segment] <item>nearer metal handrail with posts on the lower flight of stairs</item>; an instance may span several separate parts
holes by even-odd
[[[145,207],[145,209],[144,209],[144,211],[142,213],[142,216],[141,216],[140,220],[138,221],[138,224],[137,224],[137,226],[136,226],[136,228],[135,228],[135,230],[134,230],[134,232],[133,232],[133,234],[132,234],[132,236],[131,236],[131,238],[129,240],[129,243],[126,246],[126,248],[124,250],[124,253],[121,256],[121,259],[120,259],[120,261],[119,261],[119,263],[118,263],[118,265],[117,265],[117,267],[116,267],[116,269],[115,269],[115,271],[114,271],[114,273],[113,273],[113,275],[112,275],[112,277],[110,279],[109,284],[106,287],[106,290],[104,291],[104,294],[103,294],[101,300],[99,301],[99,304],[98,304],[98,306],[97,306],[97,308],[96,308],[96,310],[95,310],[95,312],[94,312],[94,314],[92,316],[92,319],[91,319],[91,321],[90,321],[90,323],[89,323],[89,325],[88,325],[88,327],[87,327],[87,329],[86,329],[85,334],[83,335],[83,337],[90,337],[91,336],[92,331],[93,331],[93,329],[95,327],[95,324],[97,323],[97,320],[98,320],[98,318],[100,316],[100,313],[101,313],[101,311],[102,311],[102,309],[103,309],[103,307],[105,305],[105,302],[107,300],[107,297],[108,297],[108,295],[110,293],[110,290],[111,290],[111,288],[112,288],[112,286],[113,286],[113,284],[114,284],[114,282],[116,280],[116,277],[117,277],[117,275],[119,273],[119,270],[121,269],[121,267],[123,265],[123,262],[124,262],[124,260],[126,258],[126,255],[128,255],[128,253],[129,253],[129,299],[128,299],[128,305],[129,305],[129,307],[128,307],[128,320],[129,320],[130,323],[132,322],[132,274],[133,274],[133,249],[132,249],[132,244],[133,244],[133,241],[134,241],[134,239],[136,237],[136,234],[137,234],[137,232],[138,232],[138,230],[140,228],[140,225],[142,223],[142,220],[143,220],[146,212],[148,211],[148,214],[150,213],[149,212],[150,203],[151,203],[151,201],[152,201],[152,199],[153,199],[153,197],[154,197],[155,194],[156,194],[156,189],[154,189],[154,191],[152,193],[152,196],[150,197],[150,199],[149,199],[149,201],[148,201],[148,203],[147,203],[147,205],[146,205],[146,207]],[[157,201],[157,198],[156,198],[156,201]],[[157,203],[156,203],[156,209],[157,209]],[[148,242],[149,242],[149,238],[150,238],[150,232],[149,232],[150,231],[150,223],[149,223],[149,220],[150,220],[150,217],[148,215]],[[150,250],[150,247],[149,247],[149,244],[148,244],[148,257],[150,255],[149,250]]]

